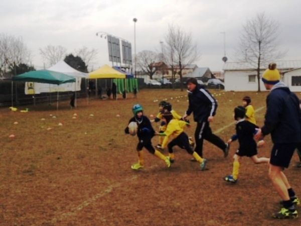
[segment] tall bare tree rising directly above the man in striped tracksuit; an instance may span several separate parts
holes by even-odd
[[[183,91],[183,69],[199,59],[200,53],[196,43],[193,43],[191,33],[186,33],[181,27],[169,26],[168,33],[165,37],[165,46],[169,54],[165,54],[168,62],[171,62],[172,74],[174,67],[178,69],[180,75],[180,87]],[[176,65],[174,65],[176,64]]]

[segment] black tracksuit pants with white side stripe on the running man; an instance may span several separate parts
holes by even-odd
[[[199,154],[199,156],[203,157],[203,142],[204,139],[219,147],[223,151],[227,147],[225,142],[220,139],[218,136],[214,135],[211,131],[208,121],[203,121],[197,124],[196,132],[195,132],[195,141],[196,148],[195,152]]]

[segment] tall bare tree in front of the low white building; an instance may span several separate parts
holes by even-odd
[[[240,61],[250,63],[257,71],[258,92],[260,92],[260,67],[269,61],[281,58],[285,53],[277,50],[278,23],[257,14],[243,25],[237,56]]]

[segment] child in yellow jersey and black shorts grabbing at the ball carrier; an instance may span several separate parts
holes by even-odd
[[[164,109],[163,118],[165,118],[167,122],[167,128],[163,133],[156,133],[156,135],[166,137],[167,139],[173,137],[173,140],[168,144],[168,152],[169,152],[171,163],[173,163],[175,160],[173,147],[179,146],[180,148],[185,149],[200,163],[201,170],[205,170],[207,160],[203,159],[198,155],[198,153],[193,151],[189,143],[189,138],[187,134],[184,132],[184,128],[188,126],[189,123],[182,120],[173,119],[173,115],[171,114],[171,111],[166,107]]]

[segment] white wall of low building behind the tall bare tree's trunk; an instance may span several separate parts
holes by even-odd
[[[225,71],[225,91],[257,91],[257,76],[255,82],[249,82],[249,75],[255,74],[256,71]],[[260,90],[266,90],[261,80]]]

